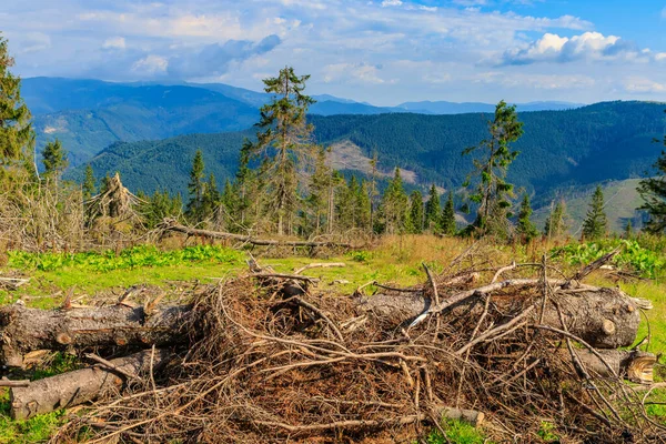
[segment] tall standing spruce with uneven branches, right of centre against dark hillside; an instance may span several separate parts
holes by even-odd
[[[467,148],[463,154],[480,152],[474,159],[474,172],[467,180],[476,176],[476,190],[470,199],[478,205],[473,228],[480,234],[507,236],[509,221],[508,209],[513,198],[513,185],[506,182],[508,165],[516,159],[518,151],[512,150],[509,143],[523,135],[523,123],[518,122],[515,105],[501,101],[495,108],[495,118],[488,122],[490,138],[478,145]]]

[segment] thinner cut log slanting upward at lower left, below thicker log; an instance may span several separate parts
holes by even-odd
[[[26,387],[10,391],[11,417],[27,420],[34,415],[69,408],[122,389],[125,377],[120,373],[145,374],[163,367],[171,357],[165,350],[151,350],[110,361],[115,367],[92,366],[34,381]],[[151,364],[152,360],[152,364]]]

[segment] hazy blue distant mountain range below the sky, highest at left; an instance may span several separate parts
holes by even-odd
[[[37,148],[56,138],[79,165],[111,143],[158,140],[190,133],[250,128],[271,95],[222,83],[111,83],[100,80],[30,78],[22,95],[34,115]],[[310,112],[320,115],[491,112],[487,103],[415,102],[374,107],[333,95],[314,95]],[[538,102],[519,110],[569,109],[579,104]]]

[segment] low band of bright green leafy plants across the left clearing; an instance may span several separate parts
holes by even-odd
[[[152,245],[102,253],[29,253],[9,251],[9,266],[23,270],[57,271],[70,266],[97,272],[127,270],[141,266],[169,266],[188,262],[243,263],[243,253],[223,246],[196,245],[182,250],[160,251]]]

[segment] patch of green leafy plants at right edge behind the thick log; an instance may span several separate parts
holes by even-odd
[[[572,243],[552,250],[551,254],[563,259],[571,265],[586,265],[608,254],[620,244],[623,250],[613,259],[615,265],[628,266],[644,278],[655,279],[663,275],[666,265],[664,250],[650,250],[642,245],[640,239],[607,239],[597,242]]]

